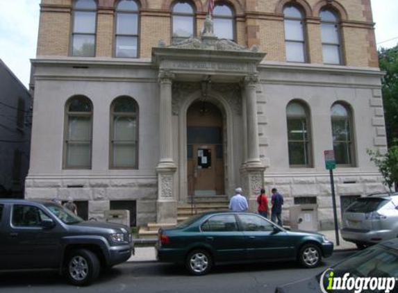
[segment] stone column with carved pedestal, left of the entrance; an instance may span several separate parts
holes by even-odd
[[[159,100],[159,144],[160,161],[158,172],[158,202],[156,221],[163,224],[175,224],[177,221],[177,206],[174,196],[174,173],[176,165],[172,158],[172,80],[174,74],[160,70],[160,100]]]

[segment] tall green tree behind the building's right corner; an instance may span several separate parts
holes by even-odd
[[[388,145],[398,137],[398,45],[391,49],[381,48],[379,64],[385,72],[382,78],[385,129]]]

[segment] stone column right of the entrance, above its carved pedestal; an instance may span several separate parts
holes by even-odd
[[[257,98],[256,85],[258,76],[255,74],[244,78],[244,95],[246,99],[247,116],[247,165],[260,166],[258,150],[258,123],[257,123]]]

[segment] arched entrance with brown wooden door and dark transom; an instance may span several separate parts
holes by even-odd
[[[224,122],[213,103],[197,101],[187,111],[188,195],[215,196],[224,188]]]

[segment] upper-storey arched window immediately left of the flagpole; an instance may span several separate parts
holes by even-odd
[[[176,44],[194,36],[194,8],[190,1],[177,1],[172,9],[173,35],[172,42]]]

